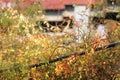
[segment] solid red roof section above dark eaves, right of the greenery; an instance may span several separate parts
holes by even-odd
[[[59,10],[64,9],[65,5],[87,5],[88,3],[93,4],[94,0],[41,0],[46,10]]]

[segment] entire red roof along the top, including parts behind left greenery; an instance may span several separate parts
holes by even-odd
[[[3,2],[14,2],[16,0],[2,0]],[[39,0],[17,0],[20,2],[23,2],[24,6],[27,6],[28,4],[32,2],[38,2]],[[95,0],[40,0],[42,6],[45,10],[62,10],[65,9],[65,5],[87,5],[88,3],[94,4]],[[23,7],[24,7],[23,6]]]

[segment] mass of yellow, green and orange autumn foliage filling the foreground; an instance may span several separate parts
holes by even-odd
[[[11,28],[8,31],[9,34],[5,32],[0,34],[0,69],[3,70],[3,72],[0,71],[1,80],[120,79],[120,46],[110,49],[103,48],[103,50],[95,52],[95,48],[101,44],[120,40],[119,26],[110,30],[107,40],[93,36],[85,38],[83,43],[75,43],[74,32],[73,34],[65,33],[65,35],[56,33],[56,35],[49,36],[36,31],[34,23],[29,21],[28,16],[24,16],[22,13],[17,13],[17,15],[15,20],[16,22],[18,20],[18,24],[13,21],[7,25]],[[108,23],[110,22],[108,21]],[[38,68],[28,68],[29,65],[35,63],[48,62],[60,56],[79,54],[83,51],[85,51],[83,56],[75,55],[60,62],[45,64]]]

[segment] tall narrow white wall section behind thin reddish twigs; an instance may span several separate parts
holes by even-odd
[[[75,26],[76,42],[81,43],[83,41],[83,38],[85,38],[89,32],[87,28],[89,23],[89,13],[90,10],[86,8],[86,5],[75,6],[75,24],[78,24],[78,26]]]

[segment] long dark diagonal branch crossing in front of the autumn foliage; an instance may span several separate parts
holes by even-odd
[[[109,45],[105,45],[105,46],[102,46],[102,47],[98,47],[95,49],[95,51],[100,51],[102,50],[103,48],[111,48],[111,47],[115,47],[115,46],[118,46],[120,45],[120,41],[118,42],[114,42],[114,43],[111,43]],[[33,65],[29,65],[25,68],[33,68],[33,67],[40,67],[42,65],[45,65],[45,64],[50,64],[50,63],[55,63],[55,62],[58,62],[58,61],[61,61],[63,59],[66,59],[66,58],[69,58],[70,56],[75,56],[75,55],[78,55],[78,53],[73,53],[73,54],[70,54],[70,55],[65,55],[65,56],[62,56],[62,57],[59,57],[59,58],[56,58],[56,59],[53,59],[53,60],[50,60],[48,62],[40,62],[40,63],[37,63],[37,64],[33,64]],[[85,55],[85,52],[81,52],[79,53],[80,56],[82,55]],[[15,68],[9,68],[9,69],[3,69],[3,70],[0,70],[0,73],[4,72],[4,71],[7,71],[7,70],[17,70],[19,69],[19,67],[15,67]]]

